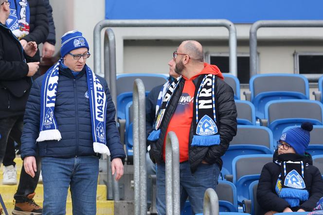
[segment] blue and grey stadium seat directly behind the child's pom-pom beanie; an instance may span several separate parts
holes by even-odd
[[[282,133],[287,131],[290,128],[299,127],[299,126],[288,126],[286,127]],[[323,125],[314,125],[313,130],[310,132],[310,142],[306,149],[306,152],[314,155],[323,155]]]

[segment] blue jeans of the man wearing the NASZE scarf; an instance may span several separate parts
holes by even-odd
[[[72,195],[73,215],[96,214],[96,189],[99,174],[97,157],[43,157],[41,174],[44,185],[43,215],[66,214],[69,187]]]

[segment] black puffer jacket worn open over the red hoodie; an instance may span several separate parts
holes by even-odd
[[[200,75],[201,76],[201,75]],[[193,82],[197,87],[198,76]],[[202,75],[204,76],[204,75]],[[165,112],[164,120],[161,127],[160,139],[156,142],[150,143],[151,149],[149,151],[150,158],[156,163],[163,162],[162,158],[162,146],[164,142],[165,132],[168,126],[168,123],[177,107],[181,92],[184,88],[185,80],[184,78],[180,79],[178,89],[175,91],[174,98],[172,98],[170,104],[167,107]],[[218,119],[218,130],[220,134],[220,144],[213,146],[191,146],[193,135],[194,135],[194,126],[193,121],[190,128],[190,137],[189,137],[189,162],[191,166],[191,172],[195,172],[197,165],[201,161],[206,161],[210,164],[217,163],[219,168],[222,168],[221,156],[224,155],[226,150],[229,147],[230,141],[236,134],[236,117],[237,112],[234,104],[233,90],[232,88],[225,83],[220,78],[216,77],[216,107],[217,110],[217,119]],[[192,113],[193,114],[193,113]]]

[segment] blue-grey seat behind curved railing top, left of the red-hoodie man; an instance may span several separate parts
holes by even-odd
[[[164,84],[167,76],[163,74],[150,73],[127,73],[117,75],[117,116],[125,119],[126,105],[132,101],[133,83],[140,78],[144,82],[146,95],[154,87]]]

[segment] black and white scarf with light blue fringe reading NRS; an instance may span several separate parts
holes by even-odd
[[[216,111],[215,111],[215,86],[216,79],[214,74],[206,74],[202,76],[202,80],[197,83],[198,90],[194,95],[195,111],[193,112],[194,131],[192,146],[211,146],[220,143],[220,135],[218,134]],[[161,133],[161,125],[164,114],[171,101],[172,95],[178,90],[178,84],[181,79],[179,76],[167,89],[162,100],[162,107],[159,110],[154,130],[148,136],[149,141],[157,141]]]

